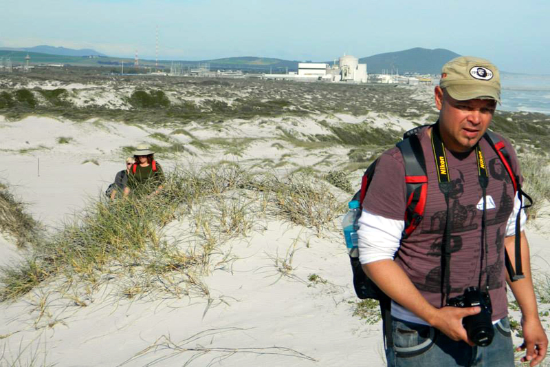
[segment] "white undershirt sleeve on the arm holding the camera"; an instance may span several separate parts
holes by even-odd
[[[404,228],[404,220],[376,216],[363,209],[357,231],[361,264],[378,260],[393,260],[397,249],[399,249],[401,233]]]

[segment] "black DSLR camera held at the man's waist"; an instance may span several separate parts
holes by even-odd
[[[464,317],[462,323],[468,338],[477,346],[488,346],[493,341],[494,329],[491,314],[491,298],[489,293],[481,292],[476,286],[469,286],[463,295],[451,298],[447,306],[452,307],[481,307],[481,312]]]

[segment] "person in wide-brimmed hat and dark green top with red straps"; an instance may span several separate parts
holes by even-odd
[[[134,162],[129,167],[128,183],[124,188],[124,197],[130,193],[149,195],[162,189],[164,173],[155,161],[154,152],[148,145],[137,145],[133,152]]]

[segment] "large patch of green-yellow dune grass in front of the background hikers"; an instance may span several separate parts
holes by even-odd
[[[151,188],[152,190],[153,188]],[[120,297],[209,297],[201,276],[228,261],[221,247],[245,237],[258,218],[285,220],[317,233],[336,229],[344,206],[314,176],[278,178],[225,162],[166,173],[153,196],[91,200],[87,208],[50,238],[32,246],[25,262],[0,271],[0,300],[16,300],[42,282],[90,283],[118,279]],[[188,223],[178,240],[167,240],[166,225]]]

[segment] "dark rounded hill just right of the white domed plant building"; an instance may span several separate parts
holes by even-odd
[[[420,74],[439,74],[441,67],[447,61],[460,56],[455,52],[436,48],[411,48],[410,50],[386,52],[359,59],[360,63],[366,63],[369,74],[380,74],[382,70],[396,72],[417,72]]]

